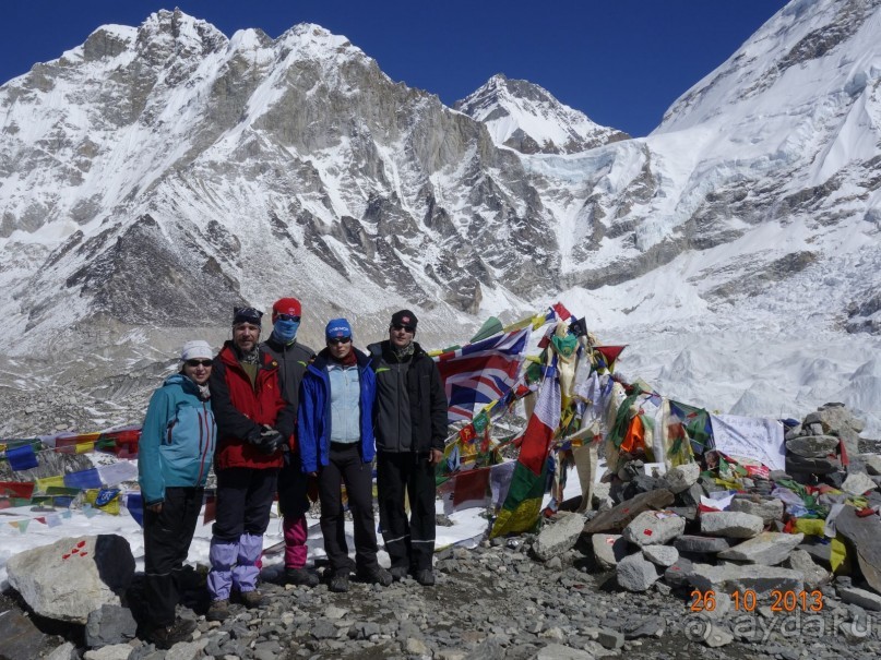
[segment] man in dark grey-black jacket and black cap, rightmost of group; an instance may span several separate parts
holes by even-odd
[[[409,310],[395,312],[389,339],[369,346],[377,374],[377,488],[392,577],[400,580],[409,573],[431,586],[434,466],[443,458],[447,440],[447,394],[434,361],[414,341],[416,323]]]

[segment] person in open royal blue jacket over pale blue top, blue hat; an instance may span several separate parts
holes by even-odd
[[[331,564],[331,591],[348,591],[353,567],[369,583],[388,587],[391,574],[377,561],[373,520],[373,422],[377,382],[370,358],[352,346],[352,326],[334,319],[328,341],[300,385],[298,441],[302,470],[318,475],[321,533]],[[355,564],[348,556],[342,484],[355,526]]]

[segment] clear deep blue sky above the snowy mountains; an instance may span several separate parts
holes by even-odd
[[[5,0],[0,82],[106,23],[179,7],[227,36],[318,23],[395,81],[452,105],[495,73],[525,79],[594,121],[645,135],[785,0]]]

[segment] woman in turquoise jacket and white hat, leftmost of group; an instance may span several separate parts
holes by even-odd
[[[207,383],[212,358],[206,341],[183,345],[180,372],[153,393],[141,430],[146,611],[150,638],[160,648],[188,639],[195,628],[175,608],[217,441]]]

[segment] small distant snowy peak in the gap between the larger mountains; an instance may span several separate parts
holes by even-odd
[[[496,144],[524,154],[574,154],[629,137],[591,121],[544,87],[503,73],[454,107],[483,122]]]

